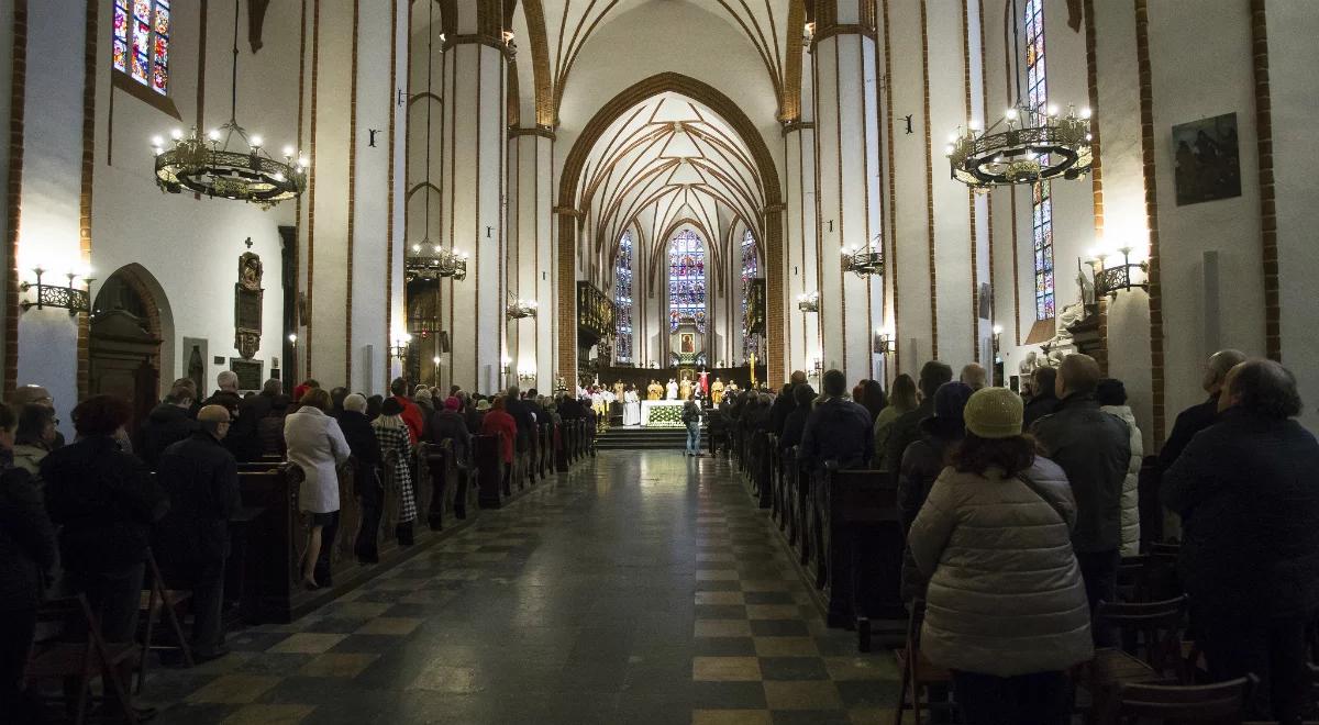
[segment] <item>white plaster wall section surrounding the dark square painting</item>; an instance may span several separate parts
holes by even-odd
[[[1264,355],[1264,268],[1260,248],[1258,146],[1248,4],[1203,0],[1200,12],[1150,4],[1154,160],[1163,282],[1166,409],[1204,398],[1199,386],[1212,349],[1203,341],[1202,256],[1219,253],[1220,347]],[[1311,13],[1312,14],[1312,13]],[[1315,22],[1311,21],[1311,28]],[[1188,69],[1213,72],[1187,72]],[[1241,195],[1177,206],[1171,127],[1236,112]]]

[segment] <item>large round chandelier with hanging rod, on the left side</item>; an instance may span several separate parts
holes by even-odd
[[[197,127],[185,134],[175,129],[166,149],[160,136],[152,140],[156,152],[156,185],[162,191],[190,191],[210,198],[253,202],[270,208],[293,199],[307,187],[307,160],[293,146],[284,149],[284,161],[269,153],[260,136],[249,136],[237,123],[239,3],[233,3],[233,66],[231,75],[230,120],[204,137]],[[237,140],[235,140],[235,136]],[[232,146],[232,148],[231,148]]]

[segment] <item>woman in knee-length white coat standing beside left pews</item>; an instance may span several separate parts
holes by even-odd
[[[339,531],[339,473],[347,463],[348,442],[339,422],[326,414],[330,393],[314,388],[302,395],[302,407],[284,420],[289,463],[302,468],[298,509],[310,518],[307,548],[302,555],[302,585],[330,587],[330,551]]]

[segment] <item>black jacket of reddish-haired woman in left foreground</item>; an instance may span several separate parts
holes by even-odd
[[[94,435],[51,451],[41,478],[50,521],[63,526],[65,569],[99,573],[146,560],[150,526],[169,510],[169,497],[113,438]]]

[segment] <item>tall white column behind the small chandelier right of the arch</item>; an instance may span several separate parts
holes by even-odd
[[[871,339],[884,319],[881,279],[844,273],[840,264],[843,246],[882,236],[872,8],[864,0],[818,8],[813,51],[823,361],[848,382],[877,374]]]

